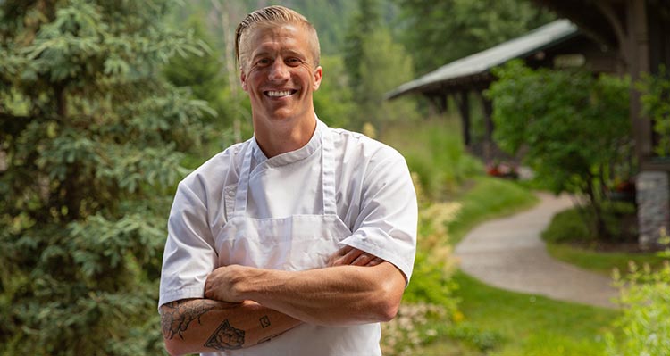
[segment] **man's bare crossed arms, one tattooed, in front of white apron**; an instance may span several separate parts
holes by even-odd
[[[344,247],[328,267],[305,271],[224,266],[207,277],[205,299],[161,306],[172,355],[252,346],[301,323],[346,326],[393,319],[406,286],[392,264]]]

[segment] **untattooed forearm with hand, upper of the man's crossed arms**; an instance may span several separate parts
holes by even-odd
[[[393,319],[405,289],[404,277],[388,262],[299,272],[240,266],[234,273],[232,290],[238,298],[324,326]]]

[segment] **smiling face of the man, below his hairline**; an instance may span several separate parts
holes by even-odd
[[[249,30],[240,79],[255,125],[314,117],[312,93],[321,84],[322,68],[315,67],[307,33],[293,24]]]

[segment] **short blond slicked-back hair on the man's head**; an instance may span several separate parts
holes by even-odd
[[[281,26],[286,24],[300,25],[307,30],[307,37],[309,45],[312,49],[312,56],[314,57],[314,67],[319,65],[321,60],[321,48],[319,46],[319,37],[316,34],[316,29],[306,17],[280,5],[267,6],[263,9],[258,9],[255,12],[247,14],[247,17],[239,22],[238,28],[235,29],[235,59],[242,64],[240,58],[240,42],[242,37],[246,36],[250,29],[255,29],[258,26]]]

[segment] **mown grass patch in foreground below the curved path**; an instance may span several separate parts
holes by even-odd
[[[458,272],[455,281],[461,297],[462,323],[481,333],[499,335],[498,344],[482,352],[451,338],[437,340],[420,352],[425,355],[602,355],[602,335],[609,330],[616,310],[558,302],[542,296],[517,294],[486,286]]]

